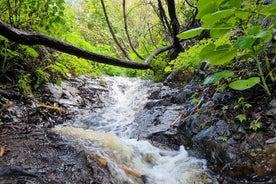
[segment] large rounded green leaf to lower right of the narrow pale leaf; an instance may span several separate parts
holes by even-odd
[[[211,43],[200,52],[200,58],[210,61],[212,65],[226,64],[234,59],[236,55],[237,50],[228,44],[216,47],[215,44]]]

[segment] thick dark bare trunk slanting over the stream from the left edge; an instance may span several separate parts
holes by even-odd
[[[41,33],[30,33],[20,31],[11,27],[9,24],[0,20],[0,35],[7,39],[24,44],[24,45],[44,45],[70,55],[78,56],[84,59],[93,60],[99,63],[120,66],[134,69],[149,69],[150,65],[147,63],[137,63],[133,61],[124,61],[110,56],[96,54],[79,47],[62,42],[55,38],[49,37]]]

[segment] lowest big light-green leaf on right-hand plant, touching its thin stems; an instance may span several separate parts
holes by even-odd
[[[260,82],[259,77],[251,77],[251,78],[246,79],[246,80],[237,80],[237,81],[231,82],[229,84],[229,87],[234,89],[234,90],[242,91],[242,90],[252,88],[253,86],[258,84],[259,82]]]

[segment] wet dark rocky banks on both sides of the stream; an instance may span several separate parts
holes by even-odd
[[[104,166],[50,131],[101,108],[107,97],[105,82],[88,77],[45,85],[29,97],[1,89],[0,181],[114,183]],[[184,145],[208,161],[219,183],[275,183],[275,99],[258,87],[239,93],[203,86],[196,78],[178,87],[153,84],[133,137],[171,149]],[[236,118],[242,113],[247,121]],[[256,131],[253,120],[262,125]]]

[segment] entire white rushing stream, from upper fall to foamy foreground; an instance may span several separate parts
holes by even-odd
[[[124,77],[103,80],[110,88],[105,107],[55,131],[108,167],[116,183],[204,183],[205,160],[188,156],[182,146],[164,150],[133,137],[139,126],[135,115],[147,102],[150,82]]]

